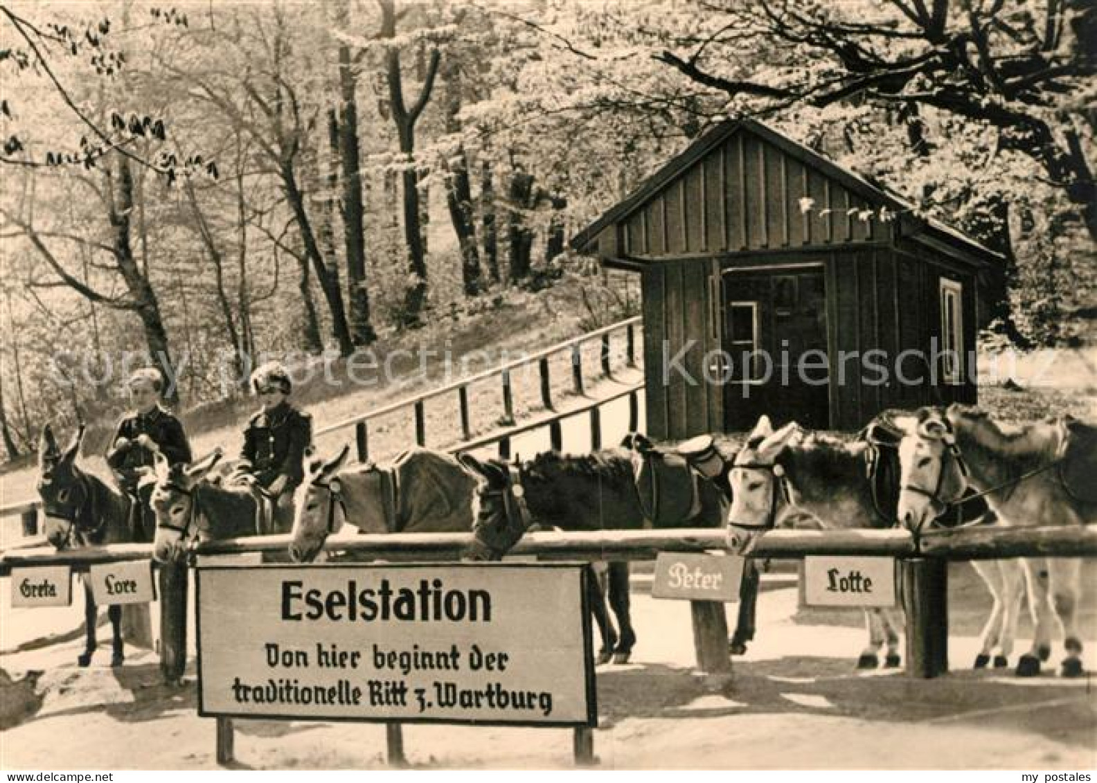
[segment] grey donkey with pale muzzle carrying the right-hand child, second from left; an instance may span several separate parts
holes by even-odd
[[[222,487],[208,474],[220,458],[220,450],[191,464],[169,466],[157,455],[152,511],[156,537],[152,558],[178,563],[192,541],[219,541],[263,533],[285,533],[273,526],[273,513],[257,488],[240,484]]]

